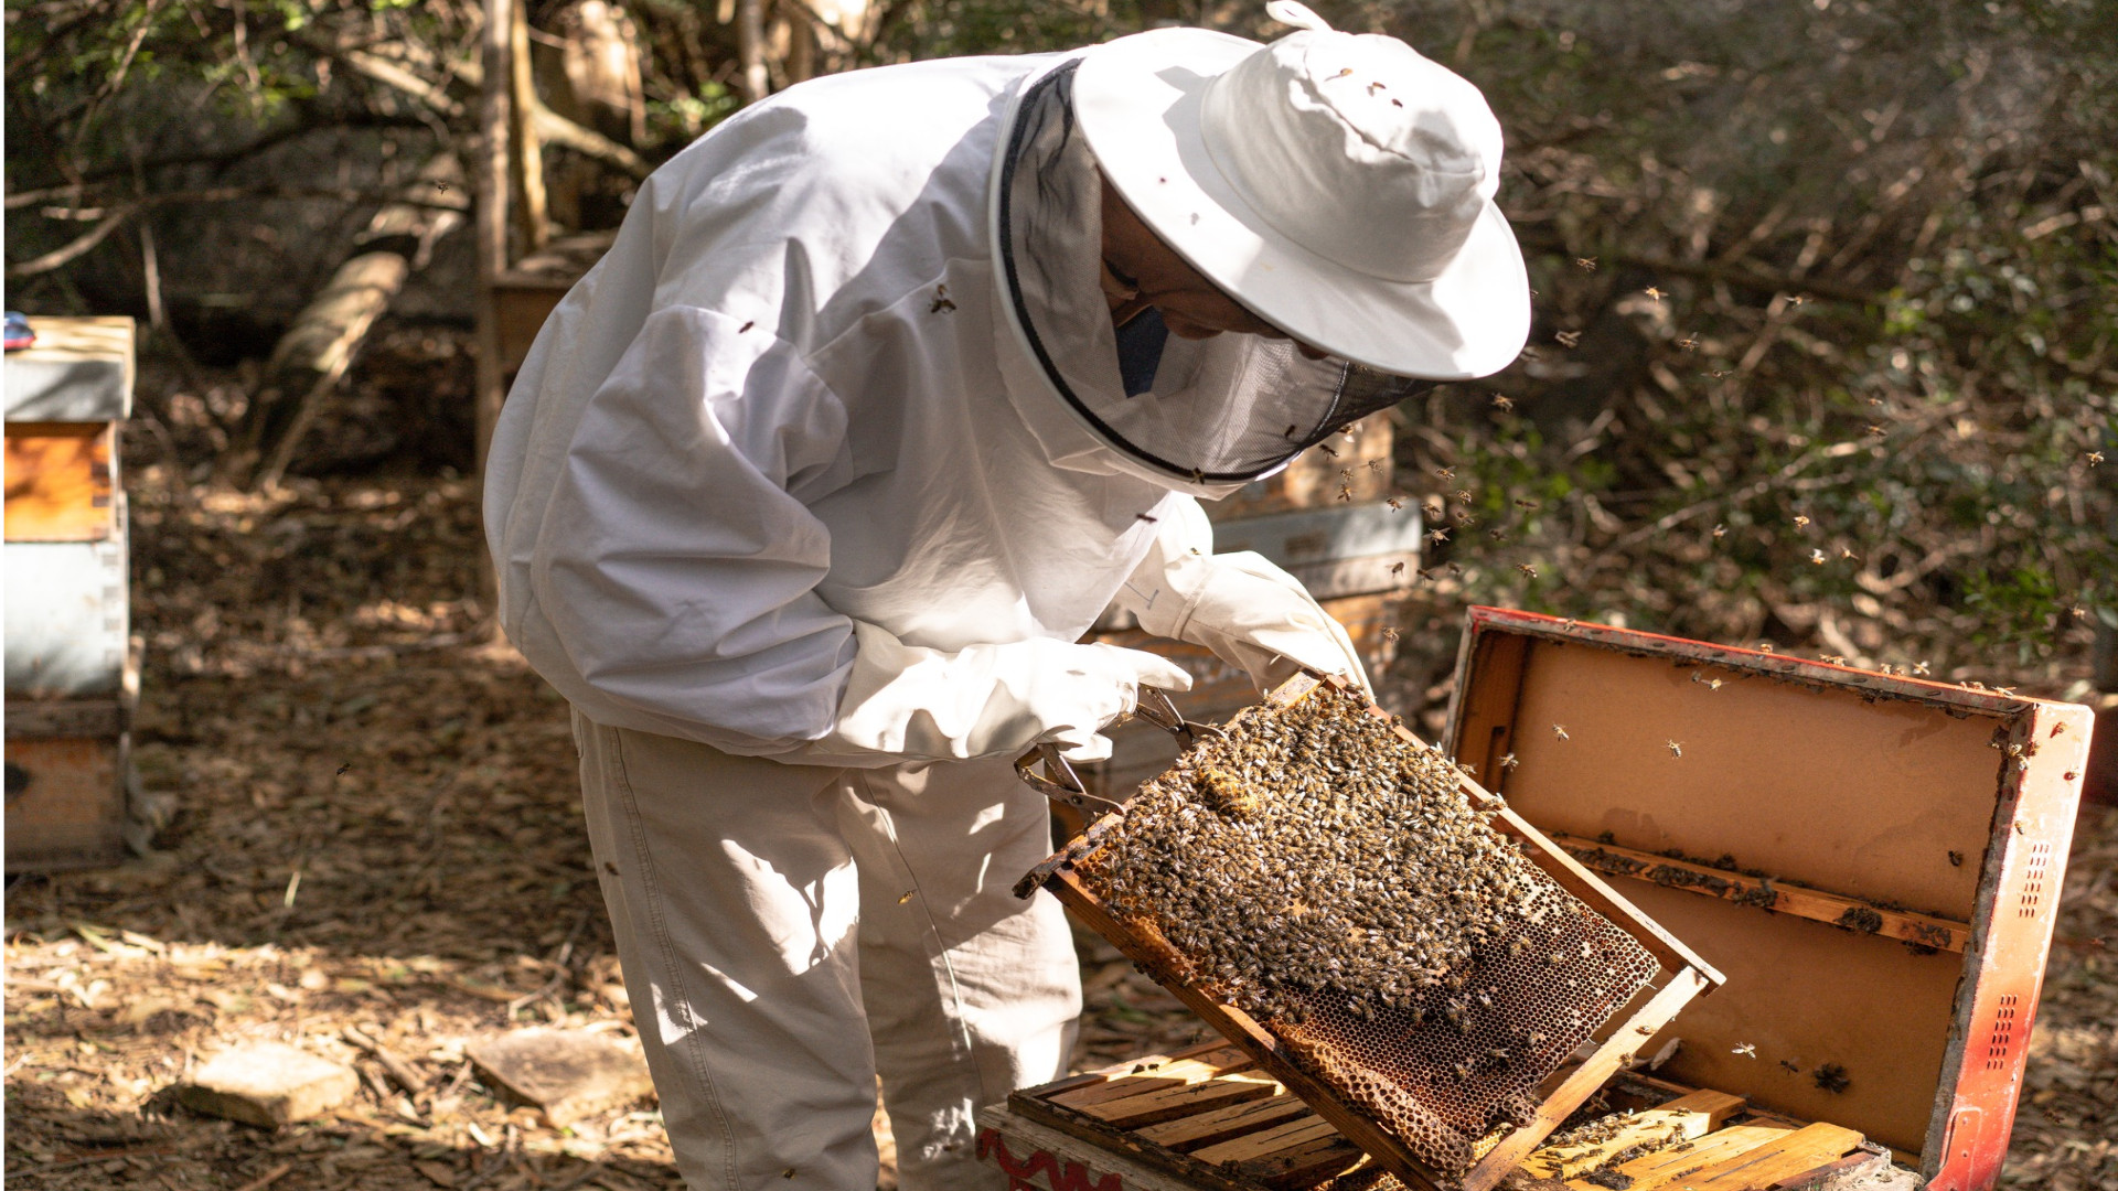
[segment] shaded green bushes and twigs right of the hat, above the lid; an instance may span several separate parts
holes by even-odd
[[[2078,672],[2118,608],[2107,4],[1360,13],[1470,47],[1540,290],[1525,360],[1406,411],[1472,481],[1451,600]]]

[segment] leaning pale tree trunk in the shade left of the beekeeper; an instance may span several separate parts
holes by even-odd
[[[455,153],[445,148],[434,155],[405,186],[407,201],[375,212],[354,252],[280,337],[265,365],[265,381],[244,413],[231,460],[237,477],[248,473],[250,487],[269,487],[286,475],[294,445],[345,375],[369,328],[390,309],[405,278],[426,265],[434,242],[464,220],[432,206],[449,191],[462,193],[462,182]]]

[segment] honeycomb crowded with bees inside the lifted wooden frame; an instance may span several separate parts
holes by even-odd
[[[1442,1176],[1658,971],[1330,685],[1190,748],[1076,873]]]

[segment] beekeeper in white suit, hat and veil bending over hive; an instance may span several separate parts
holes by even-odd
[[[972,1108],[1080,1009],[1010,771],[1150,653],[1362,678],[1197,498],[1523,345],[1500,125],[1404,42],[1156,30],[862,70],[640,189],[493,434],[502,623],[574,706],[625,985],[695,1189],[998,1185]]]

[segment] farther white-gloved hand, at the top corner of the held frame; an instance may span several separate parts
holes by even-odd
[[[1339,621],[1264,555],[1216,555],[1214,526],[1197,500],[1175,502],[1163,515],[1154,549],[1118,604],[1146,632],[1201,644],[1241,665],[1260,693],[1292,678],[1298,665],[1343,674],[1368,691],[1368,672]]]

